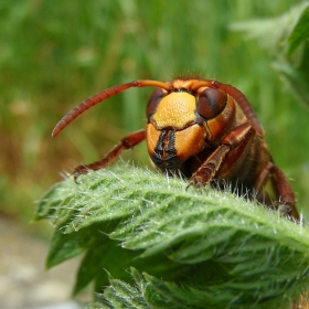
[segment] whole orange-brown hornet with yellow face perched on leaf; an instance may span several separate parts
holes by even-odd
[[[102,160],[77,167],[75,180],[111,164],[124,150],[146,140],[152,164],[163,172],[181,172],[189,185],[228,181],[234,191],[255,195],[299,220],[290,184],[271,159],[254,109],[241,90],[215,79],[139,79],[110,87],[68,111],[52,136],[94,105],[131,87],[148,86],[156,89],[148,100],[146,128],[124,137]]]

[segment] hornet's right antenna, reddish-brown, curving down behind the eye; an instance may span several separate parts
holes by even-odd
[[[221,89],[224,93],[232,96],[235,99],[235,102],[238,104],[238,106],[242,108],[242,110],[245,114],[248,122],[256,130],[256,132],[259,136],[264,136],[264,129],[263,129],[254,109],[252,108],[249,102],[247,100],[247,98],[245,97],[245,95],[241,90],[238,90],[237,88],[235,88],[231,85],[222,84],[220,82],[211,81],[211,79],[201,81],[201,82],[195,83],[191,87],[191,90],[196,90],[196,89],[199,89],[200,87],[203,87],[203,86],[214,87],[214,88]]]

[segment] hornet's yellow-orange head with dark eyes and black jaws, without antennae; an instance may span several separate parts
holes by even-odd
[[[157,88],[147,108],[146,140],[152,162],[161,170],[179,168],[219,136],[233,107],[233,99],[220,89],[203,87],[193,95],[185,88],[172,93]]]

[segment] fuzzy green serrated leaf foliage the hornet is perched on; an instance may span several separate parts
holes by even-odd
[[[78,182],[52,188],[35,219],[55,226],[49,267],[84,254],[74,291],[94,281],[90,308],[291,308],[306,299],[302,224],[130,166]]]

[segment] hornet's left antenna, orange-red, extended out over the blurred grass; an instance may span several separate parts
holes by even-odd
[[[159,87],[162,89],[166,89],[170,92],[170,86],[167,85],[163,82],[159,81],[149,81],[149,79],[138,79],[134,81],[127,84],[121,84],[117,85],[114,87],[110,87],[108,89],[105,89],[100,93],[97,93],[87,99],[83,100],[81,104],[75,106],[73,109],[71,109],[55,126],[52,132],[52,137],[57,136],[70,122],[72,122],[76,117],[82,115],[84,111],[89,109],[90,107],[102,103],[103,100],[113,97],[119,93],[122,93],[131,87],[148,87],[148,86],[153,86],[153,87]]]

